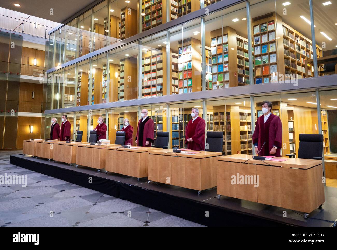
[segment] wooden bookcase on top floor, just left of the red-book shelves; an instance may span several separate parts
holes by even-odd
[[[137,11],[128,7],[121,9],[120,39],[137,34]]]

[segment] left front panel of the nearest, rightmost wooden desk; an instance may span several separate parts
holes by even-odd
[[[238,199],[257,202],[257,190],[252,184],[232,184],[232,176],[255,176],[256,167],[253,164],[218,161],[217,164],[217,192],[218,194]],[[236,180],[234,179],[234,180]],[[239,180],[237,180],[238,182]],[[237,183],[236,182],[236,183]]]

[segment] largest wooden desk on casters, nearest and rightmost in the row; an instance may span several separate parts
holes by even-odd
[[[252,160],[251,155],[217,157],[220,195],[308,213],[325,201],[321,160],[275,157],[285,161]],[[234,177],[233,177],[234,176]],[[250,183],[240,184],[243,176]],[[251,183],[258,176],[258,183]],[[247,178],[246,178],[247,177]],[[242,179],[242,177],[240,177]]]

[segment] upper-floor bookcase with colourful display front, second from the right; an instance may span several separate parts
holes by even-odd
[[[208,89],[249,84],[248,40],[224,27],[211,31],[212,79]]]

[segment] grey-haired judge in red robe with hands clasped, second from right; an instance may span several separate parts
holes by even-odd
[[[199,116],[198,108],[192,108],[192,119],[188,122],[185,129],[187,148],[190,150],[205,151],[205,127],[206,123]]]

